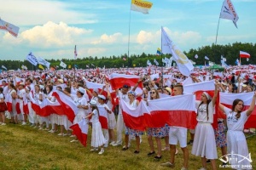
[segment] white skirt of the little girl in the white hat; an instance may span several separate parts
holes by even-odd
[[[100,122],[92,122],[92,132],[91,132],[91,146],[99,147],[106,143],[106,139],[102,133],[102,125]]]

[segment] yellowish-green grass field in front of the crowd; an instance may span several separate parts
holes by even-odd
[[[143,135],[141,152],[133,154],[135,141],[129,150],[108,146],[103,155],[90,151],[90,133],[87,147],[80,143],[70,143],[70,137],[60,137],[56,133],[38,131],[29,126],[8,124],[0,126],[0,169],[170,169],[161,167],[160,163],[169,161],[169,151],[163,151],[160,161],[148,154],[148,140]],[[163,145],[164,145],[164,141]],[[247,139],[249,152],[252,154],[253,167],[256,167],[256,137]],[[155,145],[155,144],[154,144]],[[176,167],[182,167],[183,154],[180,148],[176,156]],[[220,156],[218,150],[218,156]],[[189,145],[189,153],[191,145]],[[255,160],[255,161],[254,161]],[[217,161],[217,165],[221,165]],[[189,169],[201,167],[201,158],[189,155]],[[210,164],[207,169],[211,169]],[[224,169],[224,168],[219,168]]]

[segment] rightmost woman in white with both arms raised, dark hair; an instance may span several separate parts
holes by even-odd
[[[241,99],[233,101],[232,109],[219,104],[219,109],[227,116],[227,143],[231,166],[236,169],[252,169],[249,160],[247,140],[243,133],[244,124],[252,114],[255,106],[256,93],[253,94],[252,103],[248,110],[243,111],[244,103]],[[247,159],[244,159],[247,157]]]

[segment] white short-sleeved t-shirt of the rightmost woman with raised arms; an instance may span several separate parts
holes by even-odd
[[[247,116],[247,111],[242,111],[241,116],[237,119],[236,118],[236,112],[230,110],[227,107],[224,107],[224,113],[227,116],[227,126],[229,130],[233,131],[242,131],[245,122],[247,122],[247,119],[249,116]]]

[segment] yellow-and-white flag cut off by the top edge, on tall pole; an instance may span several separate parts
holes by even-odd
[[[131,10],[137,11],[143,14],[148,14],[149,9],[153,3],[143,0],[131,0]]]

